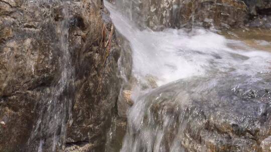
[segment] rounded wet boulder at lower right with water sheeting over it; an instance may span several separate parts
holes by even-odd
[[[268,151],[270,80],[223,74],[160,87],[132,108],[122,151]]]

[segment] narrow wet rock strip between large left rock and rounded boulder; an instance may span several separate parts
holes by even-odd
[[[105,152],[118,152],[122,147],[123,137],[126,132],[126,118],[128,109],[133,104],[131,99],[132,87],[132,51],[128,40],[117,32],[118,42],[122,49],[118,60],[121,87],[114,107],[110,128],[106,135]]]

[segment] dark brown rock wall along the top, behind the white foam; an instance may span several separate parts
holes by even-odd
[[[271,27],[269,0],[111,0],[141,27]],[[263,19],[262,19],[263,18]],[[254,20],[253,24],[250,23]],[[262,23],[263,22],[263,23]]]

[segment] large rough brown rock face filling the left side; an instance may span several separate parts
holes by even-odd
[[[111,27],[101,0],[0,1],[1,151],[103,148],[120,88]]]

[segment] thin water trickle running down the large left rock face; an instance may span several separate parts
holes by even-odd
[[[56,32],[59,39],[59,69],[60,78],[56,85],[44,93],[39,107],[39,118],[32,130],[29,144],[32,150],[39,152],[63,149],[66,136],[66,123],[71,117],[72,92],[74,92],[74,69],[69,50],[69,1],[61,3],[61,18],[56,22]],[[35,143],[34,141],[39,141]],[[34,146],[34,147],[33,147]],[[45,150],[44,150],[45,149]]]

